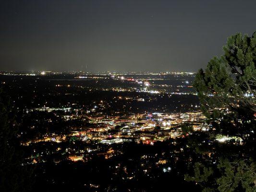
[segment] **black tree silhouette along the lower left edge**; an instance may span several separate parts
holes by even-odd
[[[0,89],[0,192],[27,192],[31,187],[17,132],[10,98]]]

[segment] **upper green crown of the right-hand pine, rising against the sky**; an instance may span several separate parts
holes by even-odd
[[[256,32],[227,40],[224,55],[196,75],[195,88],[204,109],[228,108],[252,118],[256,113]]]

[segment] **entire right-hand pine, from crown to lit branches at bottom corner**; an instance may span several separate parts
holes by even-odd
[[[223,51],[195,77],[194,87],[211,125],[210,145],[203,151],[210,155],[194,163],[185,180],[207,192],[256,192],[256,32],[230,36]],[[219,144],[218,135],[233,139]]]

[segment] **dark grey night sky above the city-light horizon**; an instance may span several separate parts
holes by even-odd
[[[256,0],[1,0],[0,70],[197,71]]]

